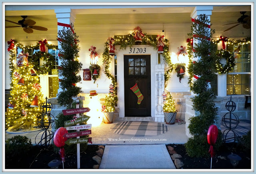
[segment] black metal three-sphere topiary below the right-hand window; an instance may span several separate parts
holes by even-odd
[[[234,132],[234,129],[239,124],[239,118],[236,114],[232,113],[234,110],[236,110],[236,103],[233,102],[232,96],[230,96],[230,101],[228,101],[225,105],[227,112],[223,117],[222,117],[222,125],[228,129],[224,130],[222,132],[222,140],[223,142],[236,142],[237,138],[239,137],[236,132]]]

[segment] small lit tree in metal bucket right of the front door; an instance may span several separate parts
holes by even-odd
[[[164,120],[166,124],[174,124],[176,119],[177,110],[175,108],[175,101],[172,99],[170,92],[163,93],[164,100]]]

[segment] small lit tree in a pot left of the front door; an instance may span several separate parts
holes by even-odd
[[[115,103],[115,97],[112,94],[108,94],[105,97],[105,104],[102,106],[103,122],[105,124],[113,123]]]

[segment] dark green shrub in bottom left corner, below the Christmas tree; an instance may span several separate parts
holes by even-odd
[[[6,140],[6,156],[17,157],[25,155],[32,148],[31,140],[26,136],[14,136]]]

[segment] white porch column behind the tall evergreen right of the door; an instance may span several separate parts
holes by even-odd
[[[200,14],[205,14],[208,17],[208,20],[210,20],[210,16],[212,15],[212,10],[213,10],[213,6],[196,6],[194,8],[194,10],[192,10],[190,16],[192,19],[198,19],[198,16]],[[210,24],[208,24],[210,25]],[[210,30],[210,28],[206,28],[206,30]],[[199,40],[197,40],[196,38],[193,38],[193,44],[195,45],[196,43],[199,42]],[[194,46],[193,45],[193,46]],[[198,61],[198,59],[200,59],[199,57],[197,58],[193,58],[193,61]],[[194,81],[196,80],[197,77],[194,77]],[[191,95],[194,96],[194,92],[191,92]],[[191,137],[191,134],[189,133],[189,129],[188,129],[188,125],[189,125],[189,118],[192,116],[195,116],[196,113],[194,110],[192,110],[192,105],[193,102],[191,101],[191,97],[192,96],[188,96],[186,97],[186,113],[185,113],[185,121],[186,121],[186,135],[188,137]]]

